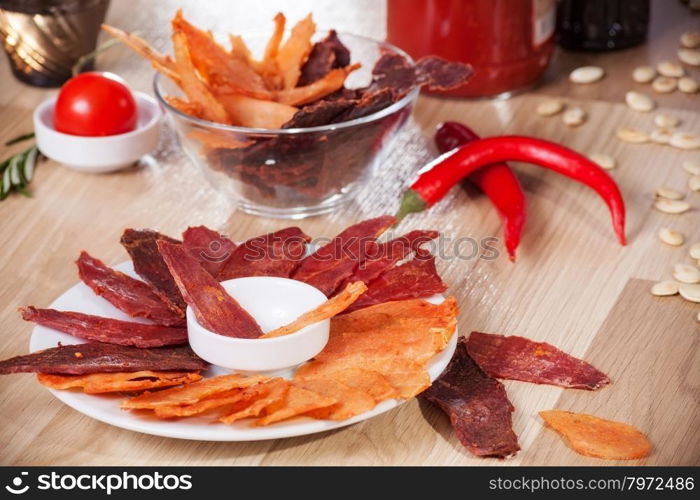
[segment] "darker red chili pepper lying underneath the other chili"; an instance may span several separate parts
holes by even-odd
[[[480,137],[472,129],[457,122],[445,122],[435,132],[435,144],[441,153],[478,139]],[[506,250],[510,260],[515,262],[515,251],[527,218],[527,201],[518,178],[505,163],[494,163],[477,170],[469,179],[489,197],[503,219]]]

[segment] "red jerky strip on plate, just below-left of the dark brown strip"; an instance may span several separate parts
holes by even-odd
[[[76,264],[83,283],[120,311],[159,325],[185,326],[184,316],[173,312],[143,281],[105,266],[87,252],[80,253]]]

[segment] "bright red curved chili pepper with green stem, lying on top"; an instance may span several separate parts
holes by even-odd
[[[479,139],[436,158],[420,171],[418,179],[404,193],[397,219],[430,207],[476,170],[505,161],[533,163],[596,191],[610,209],[618,240],[625,244],[625,202],[615,181],[588,158],[564,146],[517,135]]]

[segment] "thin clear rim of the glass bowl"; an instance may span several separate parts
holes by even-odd
[[[355,38],[358,40],[362,40],[365,42],[370,42],[370,43],[376,44],[381,48],[386,48],[391,52],[397,53],[397,54],[405,57],[406,60],[410,64],[415,64],[415,61],[413,60],[413,58],[411,56],[409,56],[406,52],[404,52],[403,50],[401,50],[400,48],[398,48],[397,46],[395,46],[389,42],[376,40],[374,38],[370,38],[370,37],[366,37],[366,36],[362,36],[362,35],[354,35],[352,33],[338,32],[338,35],[340,35],[341,37]],[[248,36],[250,36],[250,34]],[[244,36],[244,38],[245,38],[245,36]],[[319,125],[316,127],[306,127],[306,128],[249,128],[249,127],[236,127],[234,125],[225,125],[223,123],[216,123],[216,122],[211,122],[209,120],[203,120],[201,118],[195,118],[193,116],[185,114],[182,111],[174,108],[163,97],[163,92],[161,91],[161,84],[160,84],[161,78],[163,78],[163,75],[161,75],[159,72],[156,71],[155,76],[153,77],[153,92],[155,93],[156,98],[158,99],[158,102],[161,104],[161,106],[163,106],[165,109],[167,109],[170,113],[173,113],[174,115],[180,117],[181,119],[189,121],[189,122],[196,124],[196,125],[221,130],[224,132],[235,132],[237,134],[295,135],[295,134],[303,134],[303,133],[307,133],[307,132],[330,132],[330,131],[334,131],[334,130],[340,130],[340,129],[345,129],[345,128],[361,126],[361,125],[364,125],[367,123],[381,120],[382,118],[389,116],[389,115],[405,108],[408,104],[413,102],[416,99],[416,97],[418,97],[418,94],[420,93],[420,87],[415,87],[415,88],[411,89],[411,91],[408,92],[405,96],[403,96],[400,100],[398,100],[394,104],[392,104],[391,106],[387,106],[384,109],[380,109],[379,111],[375,111],[374,113],[372,113],[370,115],[362,116],[360,118],[355,118],[354,120],[348,120],[345,122],[331,123],[328,125]]]

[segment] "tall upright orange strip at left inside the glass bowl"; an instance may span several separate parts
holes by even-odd
[[[210,121],[230,124],[231,120],[226,110],[212,95],[207,86],[198,77],[190,51],[187,48],[187,39],[180,32],[173,33],[173,48],[175,51],[175,66],[180,75],[180,86],[190,102],[201,110],[202,116]]]

